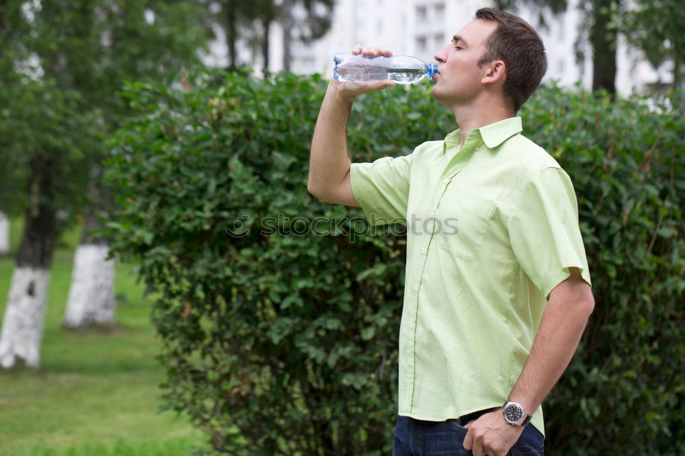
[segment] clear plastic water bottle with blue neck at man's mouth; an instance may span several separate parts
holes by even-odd
[[[438,73],[437,65],[409,55],[393,57],[364,57],[361,54],[340,53],[334,58],[336,81],[382,81],[390,79],[399,84],[412,84]]]

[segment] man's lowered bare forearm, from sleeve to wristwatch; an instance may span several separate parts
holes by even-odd
[[[569,365],[580,342],[594,300],[590,287],[574,271],[550,296],[528,359],[510,401],[532,414]]]

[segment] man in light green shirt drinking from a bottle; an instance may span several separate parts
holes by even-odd
[[[514,117],[545,50],[521,18],[484,8],[435,58],[432,96],[460,128],[407,156],[351,164],[354,97],[394,84],[331,81],[308,190],[362,207],[372,224],[408,221],[393,454],[542,454],[540,403],[594,307],[571,181]]]

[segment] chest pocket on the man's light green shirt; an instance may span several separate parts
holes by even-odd
[[[495,201],[464,188],[447,187],[436,214],[445,227],[438,235],[438,247],[453,257],[473,262],[478,257],[496,208]]]

